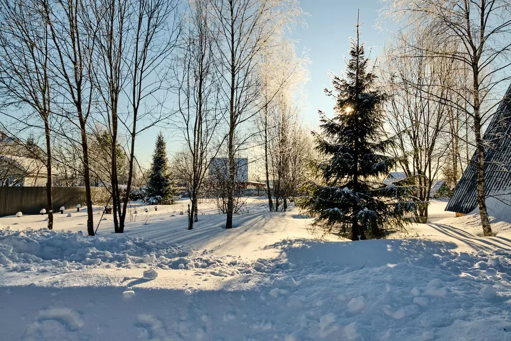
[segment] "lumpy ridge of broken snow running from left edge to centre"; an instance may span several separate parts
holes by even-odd
[[[8,271],[66,273],[87,268],[130,269],[147,268],[148,265],[219,277],[256,272],[269,274],[288,266],[285,261],[273,263],[265,259],[250,263],[241,257],[216,256],[207,251],[197,252],[174,243],[126,234],[88,237],[80,232],[45,229],[0,230],[0,269]],[[157,277],[157,272],[153,271],[148,272],[147,278]]]

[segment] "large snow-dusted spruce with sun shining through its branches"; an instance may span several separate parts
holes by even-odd
[[[313,133],[321,161],[313,164],[314,181],[304,185],[298,200],[301,209],[315,217],[326,233],[339,229],[352,240],[382,238],[389,228],[403,228],[411,221],[417,203],[406,180],[385,186],[385,177],[398,161],[387,155],[394,143],[384,131],[383,104],[387,95],[367,72],[368,58],[355,25],[345,78],[333,76],[335,116],[319,111],[321,133]]]

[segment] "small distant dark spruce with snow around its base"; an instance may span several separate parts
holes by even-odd
[[[147,180],[146,199],[151,203],[170,203],[173,193],[173,184],[167,166],[166,142],[161,131],[156,137],[153,162]]]

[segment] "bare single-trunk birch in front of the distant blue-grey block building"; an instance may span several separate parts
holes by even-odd
[[[241,127],[264,108],[259,70],[263,51],[271,38],[293,27],[301,9],[295,0],[209,0],[215,18],[215,64],[221,75],[222,97],[227,111],[227,219],[233,227],[236,185],[235,155],[246,141]]]

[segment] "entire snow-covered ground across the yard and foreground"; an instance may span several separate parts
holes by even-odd
[[[203,203],[188,231],[186,204],[137,207],[124,235],[105,216],[92,238],[83,211],[55,215],[55,231],[0,218],[0,340],[511,340],[497,204],[496,237],[434,201],[428,224],[363,242],[319,240],[255,198],[232,230]]]

